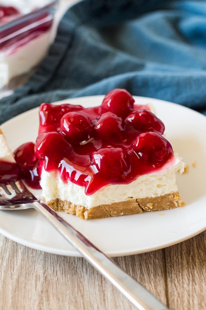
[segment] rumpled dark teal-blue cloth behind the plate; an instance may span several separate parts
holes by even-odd
[[[42,102],[116,87],[206,114],[206,1],[77,3],[36,73],[0,100],[0,123]]]

